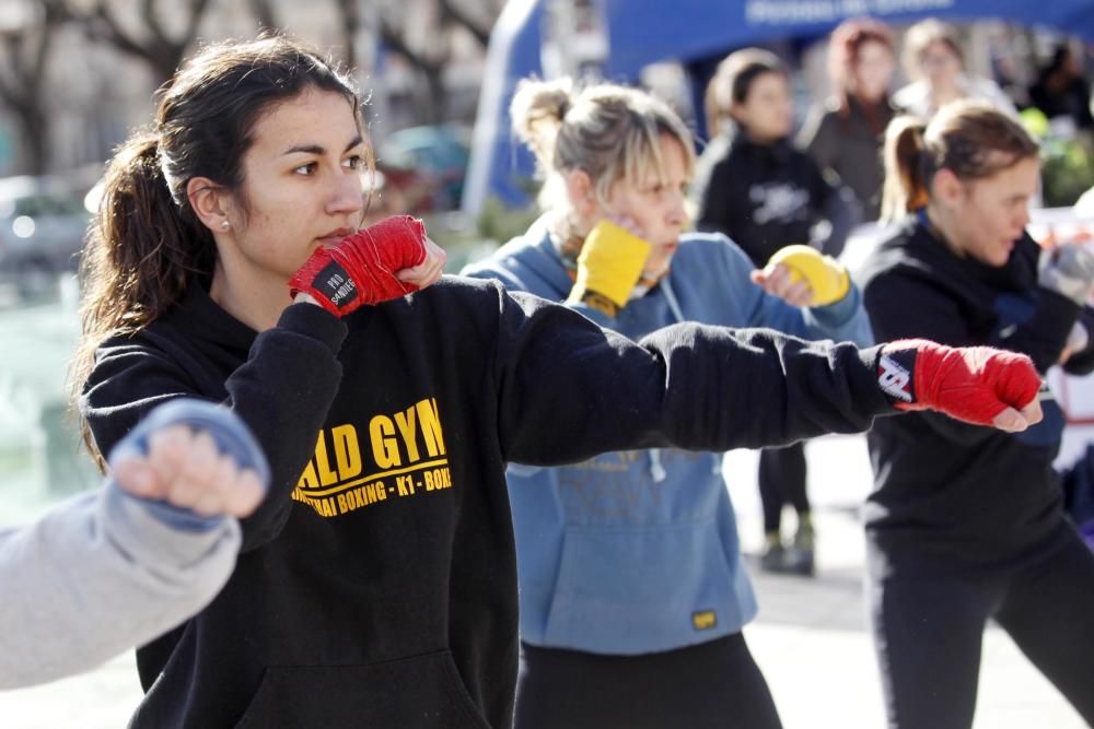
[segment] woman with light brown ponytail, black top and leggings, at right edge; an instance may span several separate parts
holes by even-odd
[[[1026,234],[1037,145],[982,103],[900,117],[886,140],[895,232],[860,278],[881,340],[924,337],[1022,352],[1040,373],[1094,371],[1094,256]],[[934,413],[868,435],[869,598],[891,727],[967,728],[980,640],[1005,630],[1094,722],[1094,554],[1061,509],[1052,460],[1063,416],[991,433]]]

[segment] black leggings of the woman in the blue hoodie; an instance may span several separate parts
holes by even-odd
[[[601,656],[521,644],[515,729],[779,729],[740,633],[687,648]]]

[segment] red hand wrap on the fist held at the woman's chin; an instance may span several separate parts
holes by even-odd
[[[317,249],[289,279],[292,295],[311,294],[335,316],[418,291],[395,273],[426,260],[426,226],[395,215]]]

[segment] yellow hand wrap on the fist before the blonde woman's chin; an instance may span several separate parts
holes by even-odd
[[[584,303],[609,316],[618,314],[642,275],[650,247],[615,223],[597,223],[578,254],[578,279],[567,303]]]

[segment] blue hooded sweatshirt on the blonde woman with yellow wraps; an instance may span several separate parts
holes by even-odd
[[[872,343],[853,285],[835,304],[799,309],[765,294],[752,270],[724,235],[687,234],[668,274],[616,318],[574,308],[632,339],[698,321]],[[556,302],[573,285],[545,219],[463,273]],[[720,454],[652,449],[560,468],[510,465],[522,639],[636,655],[738,633],[756,599],[721,463]]]

